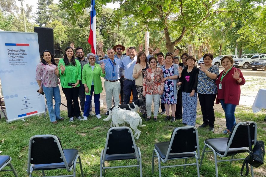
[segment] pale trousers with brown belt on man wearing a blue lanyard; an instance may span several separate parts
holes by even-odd
[[[106,105],[107,105],[107,110],[109,111],[112,108],[112,97],[114,96],[115,100],[115,106],[119,105],[119,94],[120,94],[120,81],[116,82],[109,82],[107,80],[104,81],[104,90],[106,93]]]

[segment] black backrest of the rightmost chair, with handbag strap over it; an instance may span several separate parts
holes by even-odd
[[[243,148],[248,145],[248,126],[250,129],[251,146],[257,141],[257,124],[256,122],[240,122],[235,124],[229,135],[227,146],[229,148]]]

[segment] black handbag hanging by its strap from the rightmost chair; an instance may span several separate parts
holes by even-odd
[[[251,137],[250,137],[250,128],[249,128],[250,124],[249,122],[247,122],[247,124],[248,124],[248,145],[249,145],[250,154],[248,155],[248,157],[245,158],[243,162],[243,165],[240,171],[241,176],[248,176],[248,172],[249,172],[248,164],[250,164],[253,167],[259,167],[263,165],[264,155],[265,155],[263,141],[257,141],[253,149],[251,148]],[[246,167],[246,173],[243,175],[244,167]]]

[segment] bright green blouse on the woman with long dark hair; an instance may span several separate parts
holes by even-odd
[[[65,66],[64,59],[60,59],[58,66],[60,64],[63,64]],[[77,80],[81,80],[81,65],[79,63],[79,60],[76,60],[76,66],[73,66],[72,64],[65,66],[65,72],[64,74],[61,74],[61,69],[58,68],[59,75],[60,75],[60,81],[61,86],[63,88],[72,88],[71,86],[68,86],[68,83],[77,83]],[[78,84],[76,87],[79,87]]]

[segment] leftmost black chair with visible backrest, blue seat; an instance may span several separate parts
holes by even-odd
[[[77,160],[79,161],[77,162]],[[79,163],[81,176],[83,177],[83,170],[79,151],[76,149],[63,149],[60,139],[55,135],[35,135],[29,140],[29,157],[28,170],[29,177],[32,176],[34,170],[66,169],[76,177],[76,164]],[[59,176],[57,176],[59,177]]]

